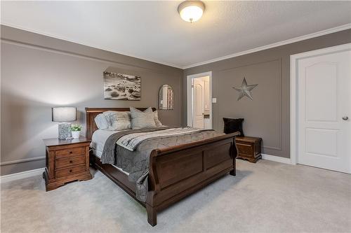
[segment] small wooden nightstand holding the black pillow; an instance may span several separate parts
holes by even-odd
[[[235,143],[238,148],[237,158],[257,162],[261,156],[261,138],[253,136],[236,136]]]

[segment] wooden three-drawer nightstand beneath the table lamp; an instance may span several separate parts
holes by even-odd
[[[43,173],[46,191],[54,190],[70,181],[91,179],[89,144],[85,137],[71,140],[44,139],[46,169]]]

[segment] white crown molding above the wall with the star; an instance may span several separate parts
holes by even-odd
[[[201,65],[204,65],[204,64],[212,63],[212,62],[219,62],[219,61],[222,61],[222,60],[225,60],[225,59],[228,59],[228,58],[239,57],[241,55],[246,55],[246,54],[249,54],[249,53],[252,53],[252,52],[258,52],[258,51],[262,51],[262,50],[267,50],[269,48],[275,48],[275,47],[279,47],[279,46],[282,46],[282,45],[287,45],[289,43],[295,43],[295,42],[298,42],[298,41],[304,41],[304,40],[307,40],[309,38],[314,38],[314,37],[318,37],[318,36],[324,36],[326,34],[331,34],[331,33],[334,33],[334,32],[343,31],[343,30],[347,30],[347,29],[351,29],[351,23],[350,24],[344,24],[344,25],[341,25],[341,26],[338,26],[338,27],[332,27],[331,29],[326,29],[326,30],[323,30],[323,31],[317,31],[317,32],[314,32],[314,33],[311,33],[311,34],[307,34],[305,36],[298,36],[298,37],[291,38],[291,39],[288,39],[288,40],[285,40],[285,41],[279,41],[277,43],[271,43],[269,45],[263,45],[263,46],[260,46],[260,47],[257,47],[257,48],[252,48],[252,49],[249,49],[249,50],[236,52],[236,53],[233,53],[231,55],[224,56],[224,57],[217,57],[217,58],[214,58],[214,59],[209,59],[207,61],[191,64],[189,66],[183,66],[182,69],[188,69],[188,68],[192,68],[194,66],[201,66]]]

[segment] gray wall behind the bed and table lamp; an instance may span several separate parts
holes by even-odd
[[[103,99],[109,66],[141,76],[141,101]],[[174,110],[159,111],[159,118],[180,125],[182,81],[181,69],[1,26],[1,175],[44,167],[42,139],[58,136],[52,106],[77,106],[85,124],[85,107],[156,107],[166,83]]]

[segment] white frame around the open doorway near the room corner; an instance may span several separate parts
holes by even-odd
[[[204,73],[194,73],[187,76],[187,126],[192,127],[192,117],[193,117],[193,108],[192,108],[192,99],[193,99],[193,92],[192,92],[192,79],[194,78],[201,78],[209,76],[209,85],[210,85],[210,125],[211,129],[213,129],[212,125],[212,71],[207,71]]]

